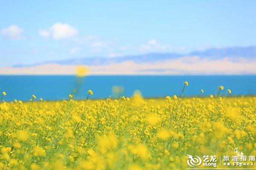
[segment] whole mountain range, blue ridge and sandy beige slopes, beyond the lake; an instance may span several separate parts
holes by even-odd
[[[256,75],[256,46],[212,48],[189,54],[84,57],[1,67],[0,75],[76,75],[80,65],[85,65],[89,75]]]

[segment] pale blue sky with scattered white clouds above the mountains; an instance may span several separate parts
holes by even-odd
[[[10,1],[0,66],[256,45],[256,1]]]

